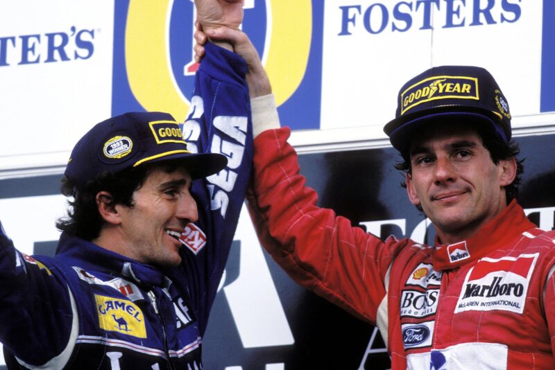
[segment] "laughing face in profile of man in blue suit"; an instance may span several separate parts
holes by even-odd
[[[133,206],[117,204],[119,245],[111,249],[157,267],[181,262],[178,240],[188,222],[196,222],[196,202],[185,168],[155,167],[133,193]]]

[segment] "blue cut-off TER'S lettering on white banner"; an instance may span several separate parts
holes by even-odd
[[[0,67],[89,59],[94,33],[71,26],[68,31],[0,37]]]

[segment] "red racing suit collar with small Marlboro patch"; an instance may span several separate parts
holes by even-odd
[[[535,227],[536,225],[524,215],[522,207],[516,200],[512,200],[501,213],[481,227],[471,238],[459,243],[441,245],[436,236],[434,270],[450,270],[477,261],[493,250],[509,245],[511,240]]]

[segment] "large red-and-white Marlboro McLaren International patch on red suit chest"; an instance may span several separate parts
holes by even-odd
[[[524,312],[526,294],[538,254],[482,258],[468,272],[455,313],[468,310]]]

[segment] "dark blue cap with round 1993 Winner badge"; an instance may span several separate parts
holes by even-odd
[[[219,172],[228,159],[216,153],[193,153],[171,114],[130,112],[92,127],[71,151],[65,175],[78,189],[103,172],[160,161],[179,160],[193,179]]]

